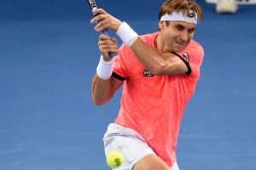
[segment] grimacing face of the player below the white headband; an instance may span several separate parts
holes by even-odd
[[[193,39],[195,24],[186,21],[160,21],[160,45],[164,52],[180,52]]]

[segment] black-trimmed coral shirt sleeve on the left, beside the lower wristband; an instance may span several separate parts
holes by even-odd
[[[128,78],[128,50],[129,48],[123,43],[119,48],[119,54],[114,57],[112,76],[121,81],[125,81]]]

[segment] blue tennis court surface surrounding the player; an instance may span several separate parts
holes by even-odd
[[[157,30],[164,1],[98,1],[138,34]],[[204,20],[201,79],[183,116],[181,170],[256,169],[256,6]],[[100,52],[85,1],[0,0],[0,169],[107,170],[102,136],[119,111],[90,98]],[[115,36],[113,34],[113,36]],[[119,42],[120,45],[120,42]]]

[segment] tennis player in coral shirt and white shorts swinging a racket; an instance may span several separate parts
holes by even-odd
[[[176,146],[180,123],[195,92],[204,56],[193,40],[202,18],[193,0],[168,0],[159,13],[159,31],[138,36],[102,8],[90,22],[96,31],[111,29],[124,42],[101,35],[102,53],[92,81],[92,99],[104,105],[123,85],[120,109],[104,135],[106,155],[119,150],[125,162],[117,170],[178,170]],[[119,53],[114,58],[109,52]]]

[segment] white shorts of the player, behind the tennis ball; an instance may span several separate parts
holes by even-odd
[[[114,123],[108,125],[103,142],[106,156],[111,151],[118,150],[125,158],[123,165],[114,168],[114,170],[132,170],[137,161],[144,156],[155,154],[154,150],[137,131]],[[179,170],[177,162],[174,163],[170,170]]]

